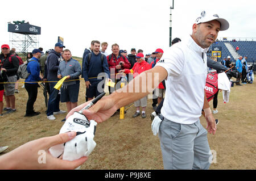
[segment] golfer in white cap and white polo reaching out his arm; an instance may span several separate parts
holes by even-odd
[[[97,122],[105,121],[118,108],[150,94],[165,79],[162,116],[160,121],[154,119],[152,123],[153,133],[159,132],[164,169],[209,169],[212,154],[207,131],[200,123],[202,108],[209,133],[216,133],[216,122],[204,91],[206,53],[217,39],[218,32],[228,28],[225,19],[203,11],[193,24],[188,40],[168,48],[154,68],[139,74],[121,90],[104,96],[89,110],[84,110],[84,115]],[[147,92],[135,92],[144,86],[148,87]],[[67,117],[86,104],[73,109]]]

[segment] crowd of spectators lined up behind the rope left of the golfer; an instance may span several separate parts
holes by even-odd
[[[43,48],[34,49],[28,52],[24,63],[27,64],[28,77],[24,80],[23,88],[28,93],[26,113],[24,116],[32,117],[39,115],[41,112],[34,110],[34,103],[38,96],[39,83],[49,95],[46,106],[46,117],[49,120],[55,120],[56,114],[69,112],[77,106],[80,75],[85,81],[85,100],[91,100],[104,91],[105,83],[112,82],[115,86],[109,86],[109,93],[120,88],[121,77],[126,75],[126,80],[131,81],[137,74],[142,73],[154,67],[163,54],[162,49],[157,49],[152,53],[144,56],[143,50],[131,48],[128,54],[126,49],[120,49],[118,44],[111,47],[112,53],[108,53],[108,43],[93,40],[90,47],[85,48],[82,63],[72,58],[71,51],[65,49],[62,43],[56,43],[53,49],[43,52]],[[18,94],[17,71],[20,65],[19,56],[15,48],[10,49],[9,45],[4,44],[1,47],[0,65],[1,65],[1,82],[0,98],[5,97],[5,107],[0,99],[0,115],[13,113],[15,108],[15,93]],[[23,62],[21,63],[23,64]],[[136,66],[135,66],[136,65]],[[136,68],[136,69],[135,69]],[[129,76],[129,74],[131,76]],[[65,77],[65,81],[60,91],[55,90],[57,82]],[[10,83],[7,83],[10,82]],[[14,83],[15,82],[15,83]],[[155,109],[163,98],[163,85],[159,85],[154,90],[152,107]],[[59,94],[60,92],[60,94]],[[47,94],[46,93],[46,94]],[[142,107],[142,117],[146,117],[145,101],[136,102],[137,112],[134,115],[140,115],[139,107]],[[65,102],[67,111],[60,110],[60,102]],[[135,117],[137,117],[135,116]]]

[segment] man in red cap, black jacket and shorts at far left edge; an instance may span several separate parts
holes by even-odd
[[[6,108],[4,111],[6,113],[12,113],[16,111],[15,109],[15,82],[17,81],[17,71],[19,68],[19,59],[16,56],[11,56],[10,54],[10,47],[7,44],[1,46],[2,53],[0,55],[0,60],[3,61],[3,66],[1,70],[5,70],[8,81],[7,82],[14,82],[14,83],[5,83],[5,101],[6,101]],[[9,58],[10,57],[10,58]]]

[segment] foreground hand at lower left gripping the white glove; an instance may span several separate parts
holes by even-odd
[[[0,157],[0,169],[76,169],[88,157],[67,161],[53,157],[48,151],[51,146],[64,144],[75,136],[76,132],[67,132],[27,142],[2,155]]]

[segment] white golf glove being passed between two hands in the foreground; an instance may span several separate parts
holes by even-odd
[[[93,140],[96,126],[96,121],[88,121],[82,113],[74,112],[65,121],[63,127],[60,129],[60,133],[75,131],[76,137],[65,142],[65,144],[52,146],[49,152],[56,158],[59,158],[63,154],[63,159],[69,161],[84,156],[88,157],[96,146],[96,142]]]

